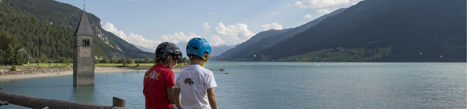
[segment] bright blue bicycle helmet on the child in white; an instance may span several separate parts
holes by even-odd
[[[211,45],[203,38],[193,38],[186,44],[186,55],[193,54],[203,57],[205,52],[211,54]]]

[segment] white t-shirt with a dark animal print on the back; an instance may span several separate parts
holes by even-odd
[[[175,88],[180,89],[183,109],[211,109],[206,89],[217,87],[212,71],[189,65],[177,75]]]

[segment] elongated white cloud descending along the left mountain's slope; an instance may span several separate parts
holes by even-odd
[[[153,41],[153,40],[147,40],[144,39],[144,37],[140,34],[125,34],[122,30],[118,30],[112,23],[107,22],[102,28],[108,32],[111,32],[121,39],[140,46],[154,46],[154,45],[159,45],[161,41]]]

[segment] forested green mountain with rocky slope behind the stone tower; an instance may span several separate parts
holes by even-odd
[[[2,0],[0,30],[17,37],[33,58],[71,58],[73,31],[82,13],[78,7],[55,0]],[[94,14],[87,16],[95,34],[96,56],[144,58],[154,54],[106,32]]]

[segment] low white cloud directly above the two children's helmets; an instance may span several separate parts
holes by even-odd
[[[179,33],[174,33],[174,34],[163,34],[161,35],[161,38],[163,41],[171,42],[171,43],[178,43],[180,41],[184,40],[190,40],[191,38],[195,37],[201,37],[199,35],[196,35],[194,33],[188,32],[188,34],[185,34],[183,32]]]

